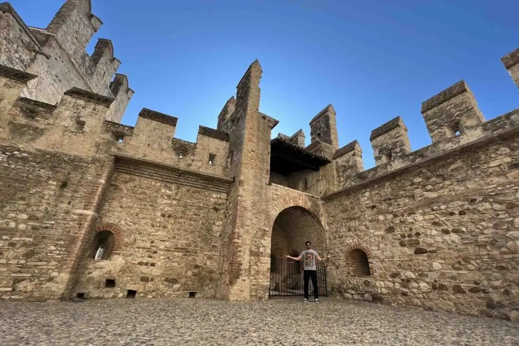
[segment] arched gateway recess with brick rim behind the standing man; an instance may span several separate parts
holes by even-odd
[[[271,234],[269,297],[303,295],[302,262],[285,255],[297,257],[305,249],[305,242],[310,241],[313,250],[324,257],[326,239],[321,222],[304,207],[291,206],[277,215]],[[324,296],[326,267],[318,263],[317,270],[319,294]]]

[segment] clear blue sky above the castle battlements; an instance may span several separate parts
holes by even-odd
[[[28,25],[45,27],[63,0],[11,0]],[[516,0],[92,0],[141,108],[179,118],[176,137],[196,141],[255,59],[260,110],[299,128],[332,103],[339,146],[358,140],[373,167],[370,132],[400,115],[413,150],[431,143],[420,105],[465,79],[485,118],[515,109],[519,93],[500,58],[519,46]]]

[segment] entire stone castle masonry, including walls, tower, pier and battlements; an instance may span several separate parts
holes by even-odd
[[[310,145],[271,140],[254,61],[190,143],[155,110],[120,124],[112,43],[85,52],[101,24],[90,0],[46,29],[0,4],[1,298],[268,299],[310,240],[332,256],[321,294],[519,321],[519,109],[485,121],[461,80],[422,103],[431,145],[396,117],[364,170],[332,105]],[[501,60],[519,87],[519,49]]]

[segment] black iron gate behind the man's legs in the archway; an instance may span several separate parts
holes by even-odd
[[[303,296],[303,264],[286,258],[276,259],[271,257],[270,261],[270,287],[268,296]],[[318,262],[316,268],[319,296],[327,296],[326,265],[322,262]],[[312,280],[309,280],[308,283],[308,293],[310,297],[313,297]]]

